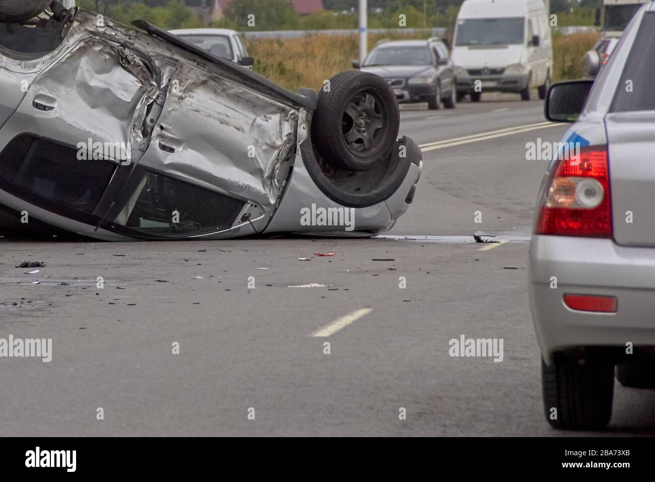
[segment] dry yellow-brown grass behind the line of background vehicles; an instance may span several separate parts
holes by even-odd
[[[582,77],[582,56],[598,39],[597,33],[576,33],[553,38],[553,80]],[[380,37],[370,37],[369,47]],[[274,83],[296,90],[318,90],[326,79],[344,70],[352,70],[358,58],[356,35],[312,35],[297,39],[252,39],[246,42],[255,58],[255,71]]]

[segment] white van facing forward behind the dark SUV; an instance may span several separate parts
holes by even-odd
[[[546,98],[552,71],[548,14],[542,0],[466,0],[453,39],[457,95],[482,92]]]

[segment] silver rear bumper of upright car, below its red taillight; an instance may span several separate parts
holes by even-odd
[[[565,294],[616,296],[617,311],[574,311],[565,305]],[[565,348],[655,346],[655,249],[622,247],[611,239],[534,235],[529,296],[547,363]]]

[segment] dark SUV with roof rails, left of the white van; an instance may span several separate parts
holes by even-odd
[[[443,102],[455,108],[455,66],[440,39],[381,41],[364,64],[352,66],[386,79],[400,103],[427,102],[436,110]]]

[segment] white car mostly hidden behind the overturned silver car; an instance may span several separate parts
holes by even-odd
[[[252,68],[255,60],[248,56],[238,32],[225,28],[189,28],[185,30],[171,30],[170,33],[178,35],[200,49],[208,50],[221,58],[232,60],[240,66]]]

